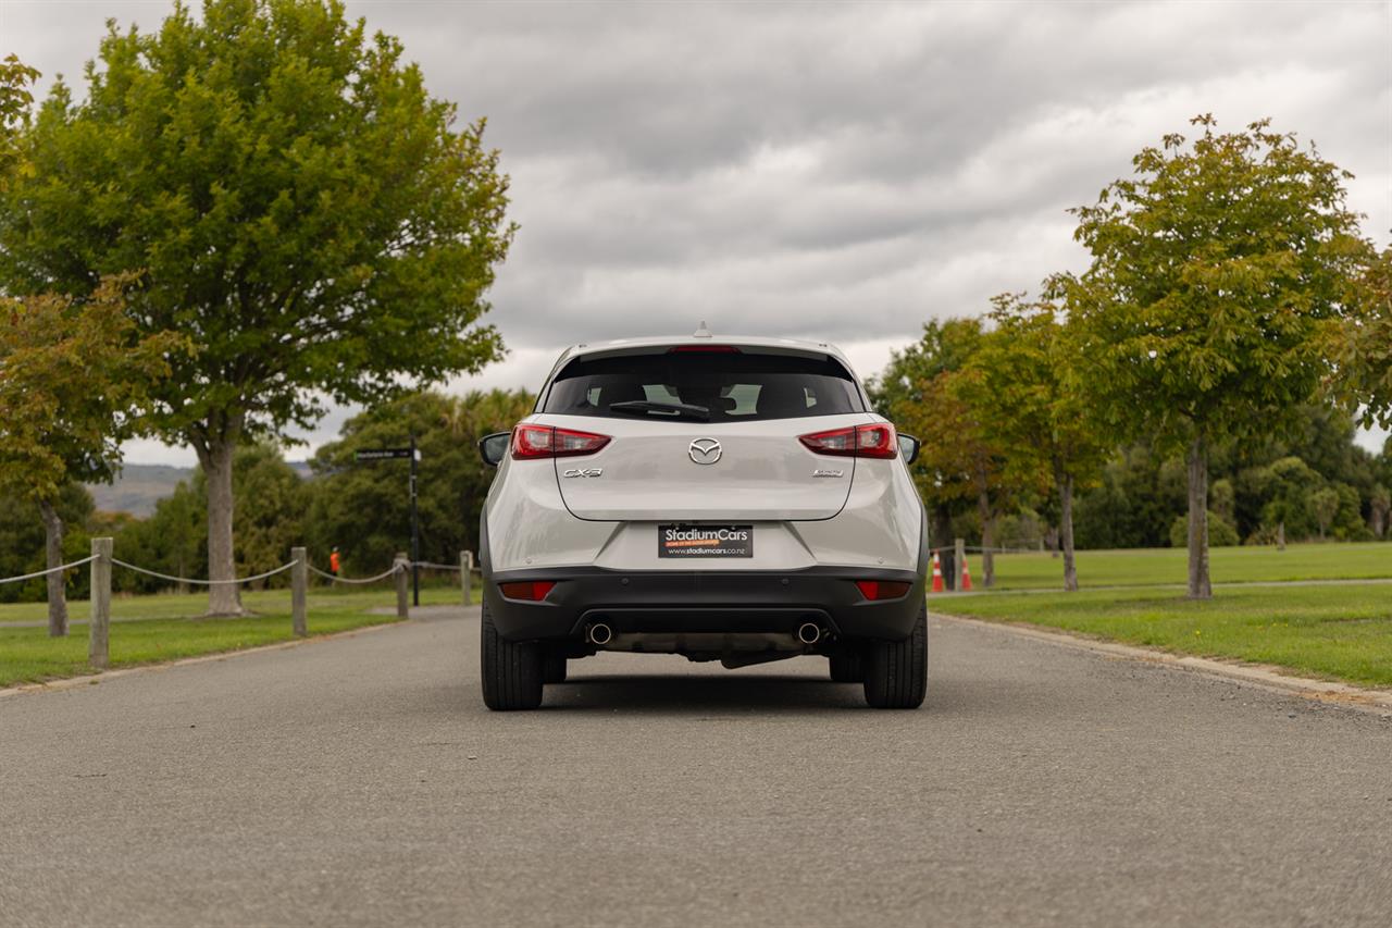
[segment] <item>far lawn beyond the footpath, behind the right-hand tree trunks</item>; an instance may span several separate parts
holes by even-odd
[[[1189,577],[1183,548],[1077,552],[1077,581],[1087,587],[1151,587],[1183,584]],[[972,578],[981,580],[981,556],[967,555]],[[1367,580],[1392,577],[1392,543],[1289,545],[1275,548],[1214,548],[1210,573],[1215,584],[1274,580]],[[995,588],[1030,589],[1063,585],[1063,559],[1048,553],[997,555]]]

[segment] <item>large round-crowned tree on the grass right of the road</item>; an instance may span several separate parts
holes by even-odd
[[[1075,210],[1093,254],[1059,276],[1118,435],[1186,449],[1189,595],[1208,598],[1208,453],[1288,424],[1328,373],[1322,329],[1367,255],[1349,177],[1265,121],[1171,134]]]

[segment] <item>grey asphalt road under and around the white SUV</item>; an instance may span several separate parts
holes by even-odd
[[[1388,719],[930,635],[919,712],[607,655],[494,715],[458,613],[0,698],[0,924],[1392,920]]]

